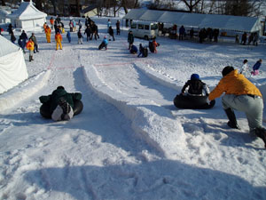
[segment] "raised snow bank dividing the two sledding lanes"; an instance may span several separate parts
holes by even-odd
[[[160,105],[151,100],[139,100],[124,97],[103,83],[93,66],[84,68],[86,81],[98,93],[98,96],[118,108],[132,122],[132,128],[139,136],[157,148],[163,156],[170,158],[177,148],[184,144],[184,129],[173,116],[170,116]],[[152,109],[149,107],[153,107]],[[157,112],[158,111],[158,112]],[[160,115],[158,114],[160,113]]]

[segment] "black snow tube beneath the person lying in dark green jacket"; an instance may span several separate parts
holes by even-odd
[[[74,108],[73,108],[74,116],[80,114],[82,112],[82,109],[83,109],[82,100],[74,100]],[[44,118],[51,119],[52,113],[50,112],[50,105],[43,103],[43,105],[40,108],[40,114]]]

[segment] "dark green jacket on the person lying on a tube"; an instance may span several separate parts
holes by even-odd
[[[74,100],[81,100],[82,93],[68,93],[64,89],[57,89],[48,96],[39,97],[39,100],[41,101],[41,103],[50,104],[50,112],[52,112],[59,105],[60,98],[64,98],[69,103],[69,105],[74,108]]]

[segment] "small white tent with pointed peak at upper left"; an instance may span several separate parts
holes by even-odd
[[[29,31],[42,29],[47,14],[36,9],[31,0],[30,2],[23,2],[22,0],[20,8],[7,17],[12,20],[14,27]]]

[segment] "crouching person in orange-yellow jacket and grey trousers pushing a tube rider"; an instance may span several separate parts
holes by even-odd
[[[208,100],[222,98],[223,109],[228,116],[228,126],[239,129],[234,109],[246,114],[249,132],[262,138],[266,148],[266,130],[262,127],[263,100],[260,90],[245,76],[239,74],[238,69],[231,66],[223,68],[223,78],[215,89],[209,93]]]

